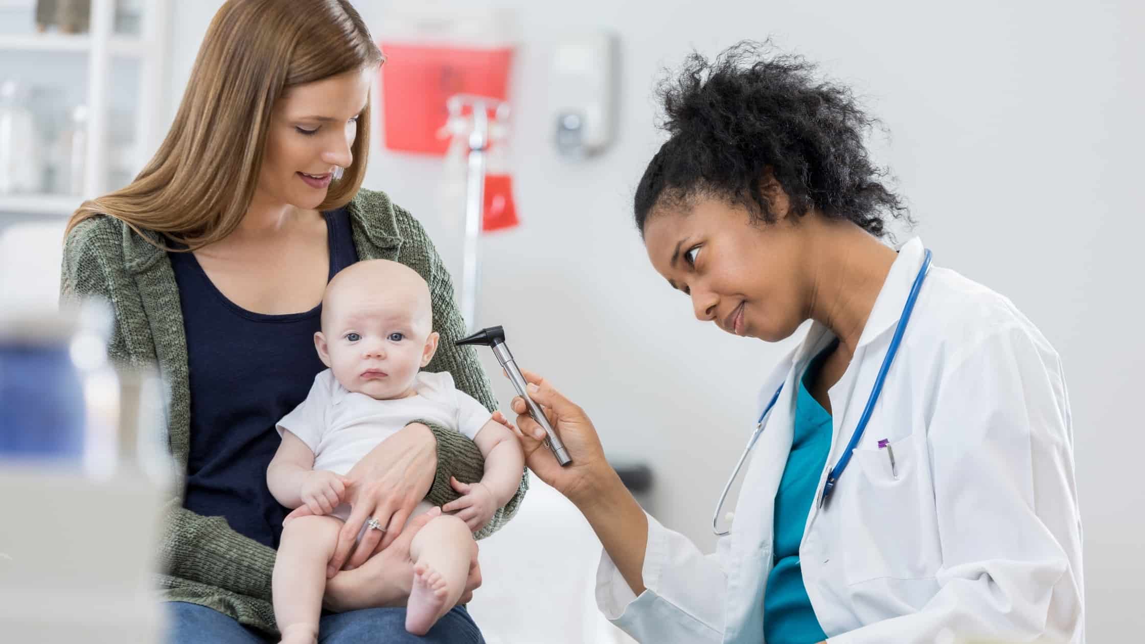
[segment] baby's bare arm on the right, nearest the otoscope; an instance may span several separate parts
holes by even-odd
[[[524,453],[512,430],[497,421],[485,423],[474,442],[485,458],[484,476],[476,484],[463,484],[453,479],[453,488],[464,496],[443,505],[442,511],[460,510],[458,518],[471,531],[476,532],[489,523],[498,508],[508,503],[516,494],[518,486],[521,485],[521,472],[524,470]]]

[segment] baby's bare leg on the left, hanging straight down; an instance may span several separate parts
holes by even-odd
[[[299,517],[283,528],[271,581],[283,642],[317,642],[326,564],[341,529],[341,519],[329,516]]]

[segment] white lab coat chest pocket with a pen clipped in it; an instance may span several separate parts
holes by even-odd
[[[899,580],[934,576],[938,570],[938,529],[933,494],[925,474],[925,442],[908,434],[890,448],[859,448],[854,473],[840,479],[851,488],[844,534],[854,539],[845,563],[847,583],[872,579]],[[891,463],[893,454],[893,465]],[[854,535],[854,536],[852,536]]]

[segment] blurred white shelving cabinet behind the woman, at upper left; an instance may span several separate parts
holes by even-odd
[[[37,3],[0,0],[0,173],[22,171],[0,182],[0,226],[127,184],[166,126],[169,0],[90,0],[80,33],[38,31]]]

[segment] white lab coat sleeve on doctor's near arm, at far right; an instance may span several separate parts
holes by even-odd
[[[1035,333],[995,328],[940,380],[927,426],[938,594],[831,644],[1084,641],[1069,409]]]

